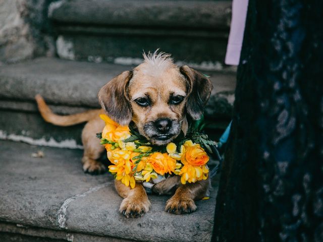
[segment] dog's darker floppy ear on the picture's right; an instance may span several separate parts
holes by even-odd
[[[187,113],[194,120],[198,120],[203,114],[204,105],[211,95],[213,85],[206,76],[188,66],[180,67],[180,72],[187,82]]]

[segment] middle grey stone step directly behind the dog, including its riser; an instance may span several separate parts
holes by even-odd
[[[99,108],[98,90],[113,77],[132,66],[72,62],[59,58],[0,66],[0,139],[36,145],[81,148],[84,124],[57,127],[44,122],[34,96],[39,93],[59,114]],[[206,118],[212,132],[224,129],[230,121],[234,101],[234,72],[203,72],[214,89],[206,105]]]

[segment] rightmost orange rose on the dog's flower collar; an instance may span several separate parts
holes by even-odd
[[[205,165],[208,160],[208,155],[199,144],[186,147],[185,155],[181,158],[183,164],[189,163],[195,166]]]

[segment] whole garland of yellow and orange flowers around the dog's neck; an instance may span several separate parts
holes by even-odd
[[[136,180],[149,181],[165,173],[180,175],[182,184],[207,179],[209,158],[199,144],[188,140],[180,147],[179,153],[176,144],[170,143],[166,147],[168,153],[151,153],[149,144],[136,148],[139,141],[124,142],[130,137],[128,126],[120,126],[105,114],[100,117],[105,122],[102,138],[111,141],[111,144],[105,144],[107,157],[113,163],[109,171],[124,185],[134,188]],[[143,157],[146,152],[148,157]],[[179,160],[181,163],[177,162]]]

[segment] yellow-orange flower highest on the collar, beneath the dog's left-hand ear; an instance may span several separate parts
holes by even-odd
[[[128,126],[119,125],[105,114],[100,114],[100,118],[105,122],[105,127],[102,131],[102,138],[109,141],[118,142],[121,138],[125,139],[130,136]]]

